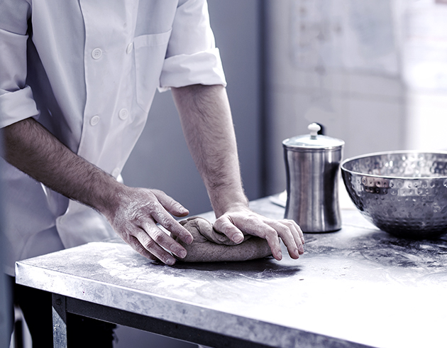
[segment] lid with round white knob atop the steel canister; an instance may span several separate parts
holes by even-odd
[[[341,139],[331,138],[330,136],[323,136],[318,134],[321,129],[319,124],[309,124],[307,127],[310,134],[304,134],[302,136],[294,136],[282,141],[282,146],[290,148],[291,150],[302,151],[311,149],[331,149],[341,148],[345,142]]]

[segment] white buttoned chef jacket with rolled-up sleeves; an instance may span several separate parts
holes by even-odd
[[[226,85],[206,0],[0,1],[0,127],[34,117],[115,178],[155,90],[193,84]],[[8,273],[115,236],[101,214],[1,165]]]

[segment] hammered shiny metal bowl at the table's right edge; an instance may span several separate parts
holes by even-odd
[[[348,195],[375,226],[394,236],[447,233],[447,153],[392,151],[341,163]]]

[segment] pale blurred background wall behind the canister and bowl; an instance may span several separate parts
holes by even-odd
[[[446,0],[267,0],[265,192],[313,121],[345,158],[447,148]]]

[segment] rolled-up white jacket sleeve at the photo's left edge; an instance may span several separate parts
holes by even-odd
[[[13,5],[11,5],[13,4]],[[26,1],[0,1],[0,128],[37,116],[31,87],[26,85]]]

